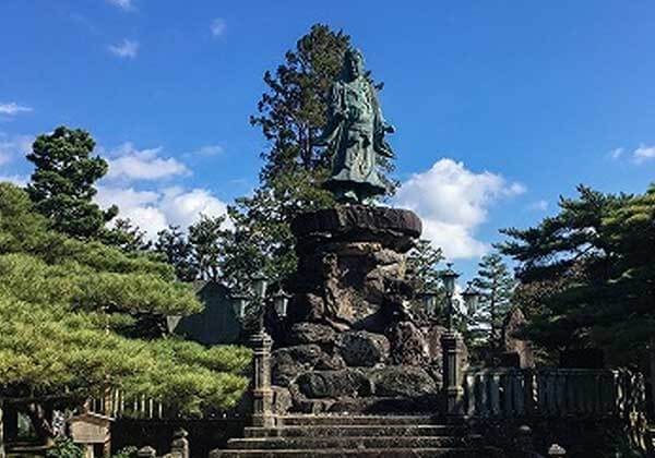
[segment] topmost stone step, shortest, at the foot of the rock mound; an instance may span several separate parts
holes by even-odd
[[[301,414],[285,415],[277,419],[281,426],[306,426],[306,425],[419,425],[443,423],[437,417],[430,415],[352,415],[352,414]]]

